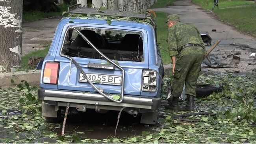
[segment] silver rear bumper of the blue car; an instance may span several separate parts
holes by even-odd
[[[157,110],[162,100],[161,97],[152,99],[124,95],[122,103],[115,103],[100,94],[44,89],[38,89],[37,97],[39,100],[51,102],[50,104],[52,105],[65,106],[67,103],[70,103],[71,107],[72,105],[81,105],[87,108],[93,108],[97,105],[106,110],[118,110],[120,107]]]

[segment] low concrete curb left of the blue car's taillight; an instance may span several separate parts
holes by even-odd
[[[2,73],[0,74],[0,87],[18,85],[22,80],[27,81],[30,85],[39,85],[40,76],[41,70]],[[11,83],[11,79],[13,79],[13,83]]]

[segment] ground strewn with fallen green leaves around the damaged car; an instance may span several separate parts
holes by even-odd
[[[54,130],[60,124],[47,124],[41,117],[41,102],[36,88],[23,81],[17,88],[0,89],[0,143],[256,143],[256,76],[232,74],[200,75],[200,83],[223,85],[224,90],[207,98],[195,99],[195,112],[214,115],[176,117],[177,114],[160,108],[160,123],[151,132],[118,139],[89,139],[83,132],[74,131],[60,136]],[[170,78],[165,78],[170,81]],[[165,94],[163,94],[165,97]],[[184,103],[182,103],[184,105]],[[21,110],[11,115],[10,110]],[[9,114],[8,114],[9,113]]]

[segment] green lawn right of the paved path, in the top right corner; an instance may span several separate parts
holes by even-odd
[[[203,9],[211,9],[212,3],[208,0],[192,0],[193,3],[201,5]],[[247,7],[234,7],[239,5],[248,5]],[[230,23],[242,32],[256,35],[256,7],[252,2],[242,0],[221,1],[219,8],[233,7],[228,9],[219,9],[215,7],[213,11],[220,20]]]

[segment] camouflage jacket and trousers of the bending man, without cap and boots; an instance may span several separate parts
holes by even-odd
[[[186,95],[196,96],[196,83],[205,54],[204,41],[197,28],[180,22],[170,27],[167,35],[169,55],[176,56],[172,95],[180,97],[185,83]],[[184,48],[188,43],[199,44],[202,47]]]

